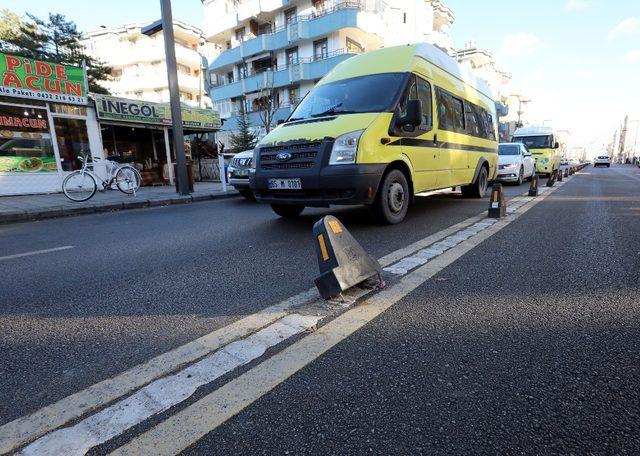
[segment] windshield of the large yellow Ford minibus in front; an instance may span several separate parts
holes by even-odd
[[[300,102],[289,121],[390,111],[405,78],[404,73],[382,73],[317,86]]]

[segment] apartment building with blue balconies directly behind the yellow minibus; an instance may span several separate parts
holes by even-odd
[[[202,0],[204,34],[223,48],[207,88],[228,144],[244,109],[264,134],[335,65],[383,46],[430,42],[454,55],[453,12],[439,0]],[[266,110],[273,112],[266,125]]]

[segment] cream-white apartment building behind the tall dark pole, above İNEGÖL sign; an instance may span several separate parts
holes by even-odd
[[[146,25],[102,27],[86,33],[83,43],[89,55],[111,68],[103,85],[112,95],[168,102],[164,37],[143,35],[141,28]],[[202,30],[179,20],[174,21],[174,35],[180,99],[194,107],[211,106],[204,84],[206,65],[217,57],[219,47],[206,42]]]

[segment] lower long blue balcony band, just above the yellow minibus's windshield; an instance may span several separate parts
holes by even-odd
[[[251,92],[258,92],[266,88],[286,87],[299,81],[321,79],[338,63],[355,55],[346,49],[338,49],[327,54],[322,59],[308,57],[300,59],[298,63],[278,67],[275,71],[263,71],[249,74],[240,81],[226,85],[212,86],[209,96],[213,101],[236,98]]]

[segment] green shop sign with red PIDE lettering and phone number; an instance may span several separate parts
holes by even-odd
[[[87,104],[81,67],[0,52],[0,95],[54,103]]]

